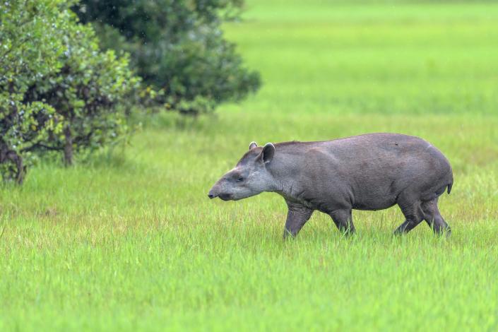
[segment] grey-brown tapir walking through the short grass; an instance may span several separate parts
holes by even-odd
[[[437,206],[453,186],[449,161],[432,144],[403,134],[364,134],[332,141],[267,143],[249,150],[216,182],[209,198],[237,201],[271,191],[288,212],[285,237],[295,237],[314,211],[331,216],[341,232],[355,232],[352,210],[398,204],[405,216],[394,234],[422,220],[438,235],[451,234]]]

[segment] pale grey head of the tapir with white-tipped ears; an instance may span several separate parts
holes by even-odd
[[[267,166],[273,160],[275,146],[266,143],[260,147],[255,142],[249,151],[237,162],[234,169],[218,180],[208,193],[209,198],[220,197],[223,201],[237,201],[271,191],[275,188],[274,179]]]

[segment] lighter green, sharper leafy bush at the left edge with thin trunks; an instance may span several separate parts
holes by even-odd
[[[23,181],[47,150],[100,148],[126,131],[126,97],[138,85],[128,58],[100,52],[66,1],[0,2],[0,172]]]

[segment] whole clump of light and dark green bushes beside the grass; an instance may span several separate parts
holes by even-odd
[[[0,170],[119,142],[131,113],[212,112],[259,88],[220,25],[241,0],[0,2]],[[77,15],[75,15],[75,13]],[[138,107],[137,107],[138,106]]]

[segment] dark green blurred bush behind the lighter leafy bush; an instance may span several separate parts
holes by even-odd
[[[83,0],[75,7],[94,22],[101,45],[131,54],[153,101],[186,114],[241,100],[260,84],[245,68],[220,24],[237,18],[241,0]],[[102,24],[104,23],[104,24]]]

